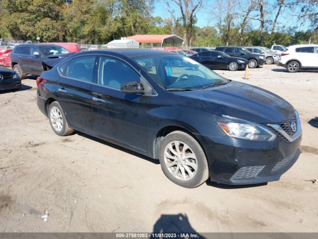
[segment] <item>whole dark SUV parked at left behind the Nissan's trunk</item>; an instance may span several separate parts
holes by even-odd
[[[70,54],[65,48],[53,44],[21,44],[12,50],[11,68],[21,79],[26,75],[39,76]]]

